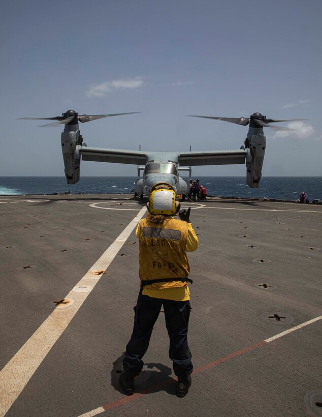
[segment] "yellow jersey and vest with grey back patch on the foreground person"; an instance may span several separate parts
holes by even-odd
[[[198,237],[191,223],[165,216],[163,223],[155,224],[148,218],[141,219],[136,229],[140,243],[140,279],[188,278],[190,267],[186,252],[198,248]],[[145,285],[143,295],[187,301],[190,292],[187,282],[158,282]]]

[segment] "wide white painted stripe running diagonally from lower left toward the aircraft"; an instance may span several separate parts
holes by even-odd
[[[88,291],[79,292],[72,289],[65,298],[73,299],[74,303],[56,307],[50,316],[40,325],[40,327],[38,327],[36,332],[0,371],[0,387],[2,391],[0,397],[0,416],[4,416],[12,406],[52,346],[56,343],[80,309],[88,294],[100,280],[102,275],[94,276],[92,272],[98,270],[105,271],[109,267],[145,212],[146,207],[142,208],[131,223],[125,227],[117,239],[74,287],[90,285]]]

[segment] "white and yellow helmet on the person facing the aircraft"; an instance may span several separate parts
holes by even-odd
[[[178,211],[180,203],[170,184],[155,184],[150,190],[150,201],[147,204],[150,213],[171,216]]]

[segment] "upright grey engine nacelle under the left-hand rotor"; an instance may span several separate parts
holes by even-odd
[[[76,147],[81,142],[80,132],[67,131],[61,134],[61,150],[65,164],[65,175],[67,184],[76,184],[79,181],[80,156],[76,153]],[[76,158],[78,156],[78,158]]]

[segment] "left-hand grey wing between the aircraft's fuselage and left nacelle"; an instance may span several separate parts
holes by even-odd
[[[83,161],[115,162],[135,165],[145,165],[146,163],[146,153],[141,151],[81,146],[79,153]]]

